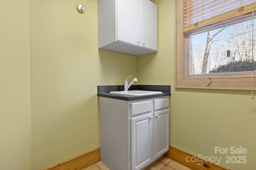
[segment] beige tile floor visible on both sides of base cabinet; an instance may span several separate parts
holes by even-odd
[[[110,170],[106,165],[101,161],[88,166],[82,170]],[[145,170],[191,170],[190,168],[175,162],[165,156],[158,159],[156,162],[148,166]]]

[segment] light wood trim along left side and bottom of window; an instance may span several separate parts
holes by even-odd
[[[187,75],[184,57],[183,1],[176,0],[176,88],[256,90],[256,72]]]

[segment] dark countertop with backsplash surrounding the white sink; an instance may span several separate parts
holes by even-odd
[[[130,96],[130,95],[124,95],[124,94],[109,93],[109,92],[113,92],[113,91],[123,91],[123,90],[124,90],[124,85],[98,86],[97,96],[132,101],[132,100],[156,98],[156,97],[171,95],[171,86],[170,85],[132,85],[129,88],[129,90],[158,91],[158,92],[163,92],[162,94],[152,94],[152,95],[146,95],[146,96]]]

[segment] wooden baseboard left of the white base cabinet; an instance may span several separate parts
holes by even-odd
[[[100,161],[100,148],[76,156],[44,170],[82,170]]]

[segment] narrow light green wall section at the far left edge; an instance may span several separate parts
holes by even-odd
[[[0,169],[31,169],[29,0],[0,2]]]

